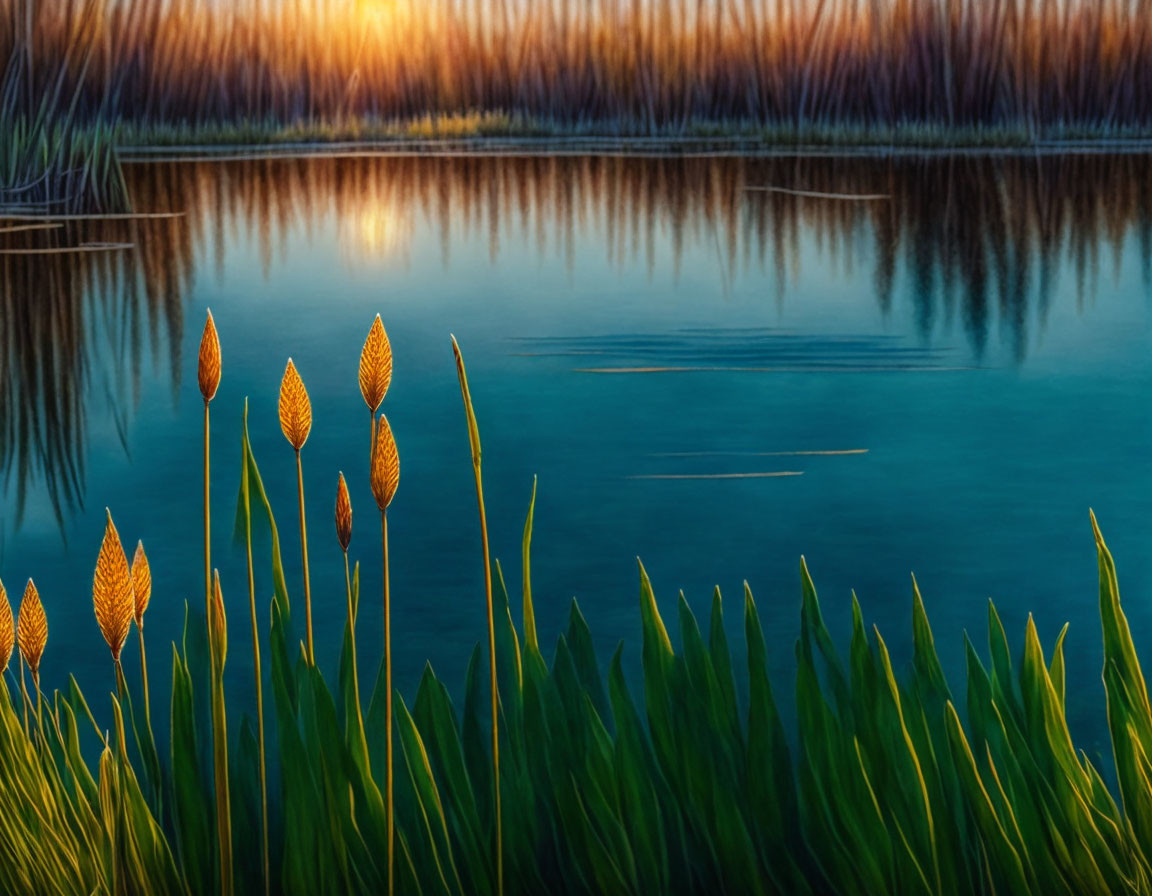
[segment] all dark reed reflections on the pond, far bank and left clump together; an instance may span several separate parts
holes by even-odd
[[[492,259],[528,248],[571,266],[577,244],[599,243],[612,265],[651,272],[670,253],[679,272],[703,249],[720,259],[718,294],[763,271],[782,302],[803,237],[887,313],[905,289],[925,341],[941,321],[961,326],[976,362],[993,326],[1024,362],[1066,260],[1081,302],[1131,241],[1152,279],[1140,154],[312,157],[132,164],[127,182],[135,208],[182,215],[0,234],[0,474],[17,523],[35,483],[58,518],[83,501],[88,420],[107,412],[122,433],[146,363],[176,388],[196,266],[222,271],[241,237],[265,272],[289,237],[326,228],[350,264],[404,257],[417,228],[438,235],[445,261],[454,242],[482,238]],[[132,248],[21,253],[91,241]]]

